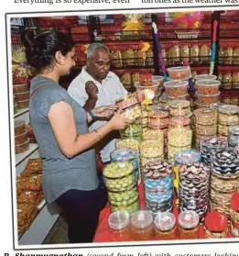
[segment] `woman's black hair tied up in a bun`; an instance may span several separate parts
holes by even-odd
[[[25,33],[24,45],[27,62],[40,72],[54,63],[57,51],[63,56],[69,53],[74,42],[70,34],[60,31],[43,30],[35,35],[33,30],[28,30]]]

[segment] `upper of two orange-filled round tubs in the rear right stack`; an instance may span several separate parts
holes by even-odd
[[[196,83],[198,94],[200,95],[216,95],[219,92],[220,82],[217,80],[200,80]]]

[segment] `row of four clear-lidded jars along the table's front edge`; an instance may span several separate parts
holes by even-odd
[[[169,212],[157,214],[150,211],[137,211],[130,217],[126,212],[118,211],[108,218],[112,241],[198,239],[199,217],[193,211],[176,217]]]

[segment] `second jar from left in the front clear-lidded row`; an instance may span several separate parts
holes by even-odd
[[[133,240],[154,239],[153,216],[150,211],[138,211],[131,217],[131,231]]]

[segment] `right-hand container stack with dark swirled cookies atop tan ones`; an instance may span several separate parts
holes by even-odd
[[[217,150],[212,153],[211,166],[211,210],[229,216],[230,201],[238,188],[239,155],[229,149]]]

